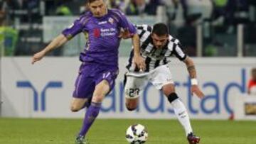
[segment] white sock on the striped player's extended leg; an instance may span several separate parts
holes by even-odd
[[[175,99],[171,102],[171,106],[174,108],[174,113],[178,118],[178,121],[181,123],[183,128],[185,129],[186,136],[188,133],[192,132],[191,123],[189,121],[188,112],[186,111],[186,107],[184,106],[183,102],[179,99]]]

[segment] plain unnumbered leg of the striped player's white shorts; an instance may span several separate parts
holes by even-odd
[[[149,81],[156,89],[162,89],[165,85],[174,84],[174,79],[167,65],[157,67],[156,70],[149,75]]]

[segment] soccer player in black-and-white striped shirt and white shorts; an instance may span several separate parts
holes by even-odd
[[[196,67],[193,60],[186,55],[178,39],[169,35],[168,28],[164,23],[156,23],[153,28],[147,25],[136,26],[140,38],[140,53],[144,58],[146,67],[141,69],[133,62],[134,49],[130,53],[127,65],[128,72],[124,76],[124,92],[126,96],[126,106],[129,111],[137,108],[139,95],[147,82],[161,89],[186,132],[186,137],[190,144],[199,143],[191,128],[191,123],[183,102],[175,92],[174,80],[168,67],[169,57],[175,55],[186,64],[188,74],[191,77],[191,92],[199,98],[204,94],[198,87],[196,79]],[[122,33],[122,38],[129,38],[127,33]]]

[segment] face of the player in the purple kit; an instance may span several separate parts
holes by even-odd
[[[105,16],[107,13],[107,6],[103,0],[93,1],[89,4],[90,11],[92,11],[93,16],[100,18]]]

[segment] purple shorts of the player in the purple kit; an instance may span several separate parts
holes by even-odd
[[[89,99],[95,91],[95,86],[107,80],[110,84],[110,91],[114,88],[114,80],[117,78],[118,68],[97,63],[83,62],[80,65],[78,77],[75,81],[73,97]]]

